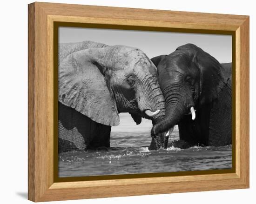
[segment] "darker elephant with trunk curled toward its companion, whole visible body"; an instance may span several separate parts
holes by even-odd
[[[166,103],[164,121],[152,127],[152,137],[178,125],[177,147],[232,144],[232,63],[220,64],[194,44],[151,61]]]

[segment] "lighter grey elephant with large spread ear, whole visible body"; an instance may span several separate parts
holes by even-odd
[[[58,151],[110,147],[111,126],[128,112],[160,123],[164,96],[156,67],[138,48],[83,41],[58,48]]]

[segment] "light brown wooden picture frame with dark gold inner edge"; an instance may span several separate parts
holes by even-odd
[[[53,103],[54,87],[56,89],[58,83],[54,80],[56,22],[85,27],[231,34],[235,50],[232,56],[233,94],[236,96],[233,101],[235,159],[232,171],[58,182],[54,178],[54,112],[56,115],[57,110]],[[39,202],[240,188],[249,188],[249,16],[41,2],[28,5],[29,200]]]

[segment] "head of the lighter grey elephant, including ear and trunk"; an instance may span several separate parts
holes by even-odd
[[[93,45],[92,45],[93,44]],[[119,125],[120,112],[158,122],[165,103],[155,65],[141,50],[82,42],[61,46],[59,101],[103,125]]]

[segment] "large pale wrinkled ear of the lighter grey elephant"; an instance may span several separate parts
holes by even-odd
[[[96,49],[69,54],[59,65],[59,101],[97,123],[119,125],[119,115],[112,90],[105,77],[106,68],[95,57]]]

